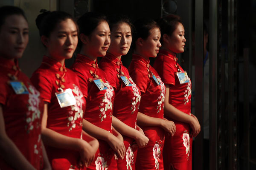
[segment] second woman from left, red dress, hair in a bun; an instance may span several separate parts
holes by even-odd
[[[46,11],[38,15],[36,23],[46,54],[31,81],[44,100],[42,139],[49,161],[54,170],[86,169],[98,142],[82,139],[85,100],[78,77],[64,64],[78,43],[76,23],[70,14],[61,11]]]

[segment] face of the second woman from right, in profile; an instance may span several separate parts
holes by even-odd
[[[150,35],[146,40],[142,40],[143,43],[143,56],[145,57],[157,57],[159,48],[161,47],[160,37],[161,32],[159,28],[152,28],[149,31]]]

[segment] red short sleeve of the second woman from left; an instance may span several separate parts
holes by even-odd
[[[30,81],[35,86],[35,88],[40,92],[41,98],[45,102],[51,102],[52,83],[50,82],[50,79],[45,77],[43,74],[36,72],[32,75]]]

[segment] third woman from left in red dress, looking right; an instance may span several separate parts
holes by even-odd
[[[97,64],[97,57],[105,56],[110,45],[110,29],[105,16],[93,12],[82,15],[78,25],[81,52],[72,69],[79,77],[87,101],[83,129],[99,139],[95,161],[88,169],[115,170],[115,152],[123,159],[125,146],[122,135],[112,128],[114,90]]]

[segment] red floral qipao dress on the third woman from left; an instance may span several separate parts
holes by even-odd
[[[106,81],[106,74],[89,57],[78,54],[75,63],[71,66],[79,77],[81,90],[86,98],[87,106],[84,119],[102,129],[112,133],[112,109],[114,90]],[[101,80],[101,85],[96,82]],[[95,160],[87,169],[116,170],[114,150],[106,141],[99,140],[99,150]]]

